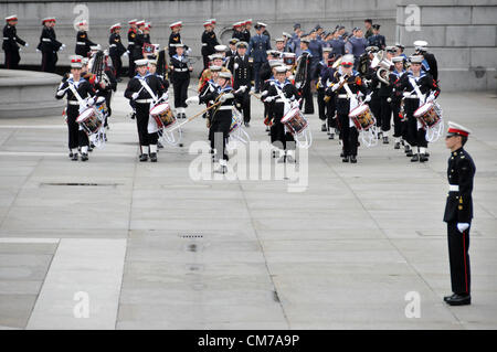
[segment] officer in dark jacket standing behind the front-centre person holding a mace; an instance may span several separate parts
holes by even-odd
[[[254,84],[254,67],[253,58],[246,54],[248,44],[245,42],[239,42],[236,44],[236,56],[230,61],[229,70],[233,73],[233,89],[237,90],[240,87],[245,86],[243,95],[240,96],[237,102],[242,106],[243,121],[246,127],[250,127],[251,121],[251,95],[250,89]]]

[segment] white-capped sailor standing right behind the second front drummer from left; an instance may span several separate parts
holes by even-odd
[[[175,108],[178,118],[187,118],[188,86],[190,85],[190,72],[193,71],[188,57],[184,55],[184,44],[176,44],[176,54],[171,57],[171,82],[175,89]]]

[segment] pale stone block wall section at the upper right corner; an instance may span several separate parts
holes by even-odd
[[[413,2],[420,10],[419,31],[410,26]],[[410,45],[408,52],[415,40],[429,42],[443,90],[497,88],[496,0],[398,0],[396,6],[398,40]]]

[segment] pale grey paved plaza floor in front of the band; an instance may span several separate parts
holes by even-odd
[[[140,163],[124,88],[86,163],[67,158],[62,116],[0,120],[0,328],[497,328],[495,92],[440,97],[446,120],[473,129],[477,168],[473,305],[448,307],[443,139],[427,163],[393,143],[342,163],[315,115],[302,192],[287,179],[194,180],[205,120]],[[267,141],[252,109],[247,131]]]

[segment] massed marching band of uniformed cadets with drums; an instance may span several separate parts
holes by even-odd
[[[6,21],[6,66],[15,68],[19,44],[28,44],[17,36],[17,15],[10,15]],[[46,72],[55,71],[57,52],[65,47],[56,40],[55,23],[55,18],[42,20],[38,47],[42,52],[42,71]],[[203,117],[208,118],[211,143],[214,142],[212,132],[222,132],[223,139],[228,140],[230,128],[226,130],[226,126],[237,126],[240,116],[240,125],[251,126],[251,98],[255,96],[264,104],[263,120],[275,151],[279,151],[278,161],[294,161],[294,151],[286,145],[296,141],[299,147],[310,146],[309,142],[302,142],[302,138],[306,136],[311,140],[308,115],[315,111],[317,96],[321,131],[330,140],[338,136],[343,162],[357,163],[361,146],[373,147],[379,140],[389,145],[392,126],[394,149],[403,147],[412,162],[429,161],[429,142],[441,135],[443,111],[436,102],[440,95],[436,60],[427,52],[427,42],[414,42],[415,52],[408,58],[403,45],[387,45],[385,38],[380,34],[380,24],[366,20],[366,34],[360,28],[355,28],[349,34],[340,24],[329,32],[317,24],[305,33],[296,23],[294,34],[283,32],[274,40],[275,49],[272,49],[267,24],[256,22],[255,33],[251,33],[252,23],[252,20],[234,23],[232,39],[226,46],[220,44],[214,32],[216,20],[203,22],[204,30],[200,36],[203,71],[198,97],[194,98],[207,106]],[[121,82],[121,56],[129,56],[130,81],[125,96],[134,111],[131,117],[137,120],[140,161],[149,158],[157,161],[161,137],[172,138],[166,126],[172,127],[179,124],[177,119],[187,119],[189,103],[195,102],[188,97],[193,65],[191,50],[181,41],[182,21],[169,25],[169,42],[162,50],[159,50],[160,45],[152,44],[150,23],[134,19],[128,24],[127,46],[120,38],[121,25],[116,23],[109,28],[108,50],[103,51],[101,45],[89,40],[87,21],[77,23],[72,71],[63,78],[56,93],[57,98],[65,94],[68,98],[68,148],[73,160],[77,159],[74,152],[77,147],[82,160],[87,160],[85,138],[75,137],[78,135],[74,130],[78,118],[76,113],[86,114],[85,119],[81,119],[80,131],[89,131],[89,151],[95,142],[102,146],[107,140],[105,130],[112,114],[112,92],[116,92],[117,83]],[[88,68],[85,72],[86,62]],[[74,74],[73,71],[77,70],[80,74]],[[171,105],[167,94],[169,82],[173,90]],[[84,92],[78,93],[81,87]],[[105,105],[97,108],[98,102],[92,98],[93,90],[85,87],[105,97]],[[224,102],[231,90],[235,94]],[[218,98],[223,99],[221,106],[216,105],[220,103]],[[78,109],[75,102],[81,103]],[[159,105],[161,108],[157,108]],[[228,106],[231,106],[231,111],[228,111]],[[158,114],[150,114],[154,108]],[[86,109],[93,113],[86,113]],[[225,117],[229,114],[232,116],[231,124]],[[95,119],[102,120],[102,124]],[[92,124],[97,126],[92,127]],[[215,158],[221,160],[221,167],[225,167],[224,147],[212,147],[214,152],[219,150]]]

